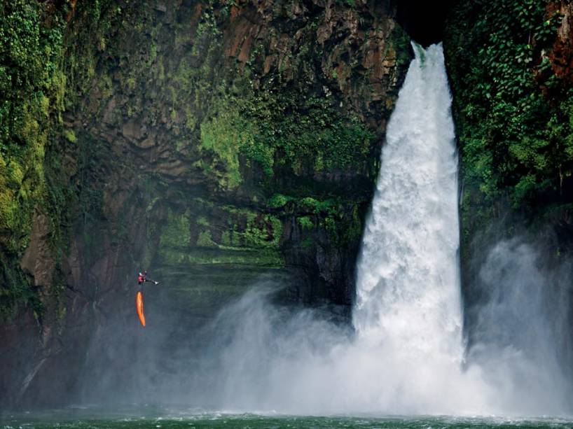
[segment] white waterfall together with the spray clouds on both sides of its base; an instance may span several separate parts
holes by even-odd
[[[524,305],[547,288],[529,248],[493,249],[480,273],[491,299],[465,351],[450,90],[441,45],[414,48],[359,255],[354,331],[254,288],[219,314],[192,398],[286,414],[567,411],[551,353],[557,325],[541,318],[541,298]]]

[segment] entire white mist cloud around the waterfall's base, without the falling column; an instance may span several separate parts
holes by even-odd
[[[566,273],[568,264],[544,266],[532,244],[492,246],[465,363],[277,306],[259,285],[209,327],[200,372],[210,385],[199,395],[218,409],[288,414],[570,414]]]

